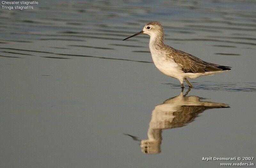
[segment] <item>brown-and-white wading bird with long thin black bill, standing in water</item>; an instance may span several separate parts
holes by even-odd
[[[189,88],[193,87],[187,78],[195,79],[199,76],[226,72],[231,68],[206,62],[189,53],[165,45],[164,30],[158,22],[147,23],[142,31],[126,39],[139,34],[150,36],[149,49],[157,69],[167,76],[178,79],[182,88],[184,88],[183,80],[188,83]]]

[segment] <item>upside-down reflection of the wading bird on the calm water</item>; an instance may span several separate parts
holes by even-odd
[[[193,122],[198,114],[206,109],[229,107],[224,103],[201,101],[201,97],[186,96],[188,92],[189,90],[183,95],[182,90],[180,95],[167,99],[164,103],[157,105],[152,111],[148,128],[148,139],[140,141],[143,153],[153,154],[161,152],[162,129],[183,127]]]

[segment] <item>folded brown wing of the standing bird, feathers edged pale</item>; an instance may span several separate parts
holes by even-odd
[[[209,71],[221,71],[220,65],[201,60],[191,54],[172,48],[170,57],[178,63],[185,73],[205,73]],[[225,67],[225,66],[223,66]],[[230,69],[228,67],[228,69]]]

